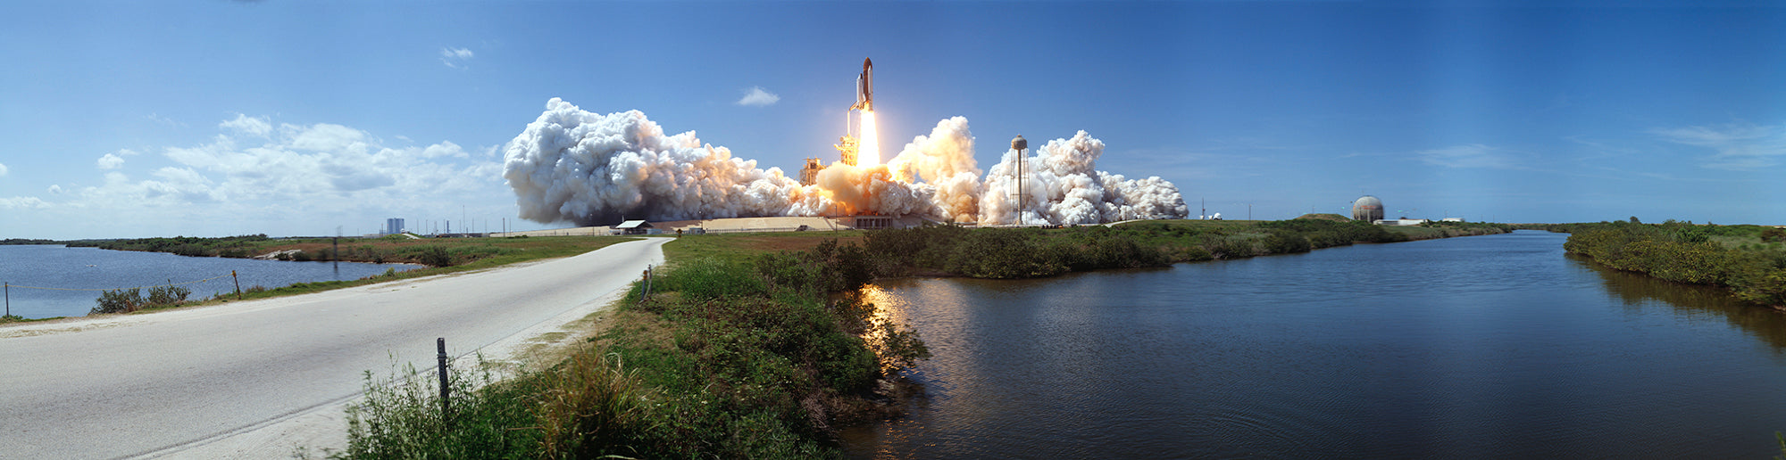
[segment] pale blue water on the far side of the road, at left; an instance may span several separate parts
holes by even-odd
[[[11,314],[23,317],[86,316],[100,291],[166,283],[188,283],[189,300],[218,292],[236,292],[230,271],[241,289],[282,287],[300,282],[359,280],[386,269],[407,271],[413,264],[280,262],[221,257],[182,257],[171,253],[109,251],[66,246],[0,246],[0,282],[11,283]],[[54,289],[34,289],[54,287]],[[63,291],[84,289],[84,291]],[[143,289],[145,296],[148,289]]]

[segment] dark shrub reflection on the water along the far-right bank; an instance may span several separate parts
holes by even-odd
[[[1568,259],[1598,275],[1607,296],[1616,298],[1627,308],[1641,310],[1661,303],[1691,321],[1723,319],[1723,323],[1766,342],[1773,353],[1786,357],[1786,314],[1779,310],[1738,300],[1731,296],[1731,291],[1720,287],[1675,283],[1616,271],[1577,255]]]

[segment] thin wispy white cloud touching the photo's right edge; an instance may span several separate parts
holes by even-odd
[[[1786,157],[1786,125],[1757,127],[1731,123],[1723,127],[1652,128],[1650,134],[1677,144],[1711,148],[1702,168],[1750,171],[1773,168]]]

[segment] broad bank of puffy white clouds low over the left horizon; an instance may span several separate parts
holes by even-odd
[[[472,159],[448,141],[386,146],[377,136],[345,125],[277,123],[246,114],[218,123],[218,130],[205,143],[159,148],[170,164],[136,175],[116,168],[136,152],[107,153],[98,160],[105,169],[98,184],[50,187],[52,194],[66,198],[55,207],[134,216],[150,225],[155,216],[166,216],[164,209],[179,209],[188,221],[254,223],[243,228],[252,232],[313,232],[304,226],[321,216],[373,221],[373,216],[477,203],[502,193],[498,162]],[[459,212],[457,205],[452,209]]]

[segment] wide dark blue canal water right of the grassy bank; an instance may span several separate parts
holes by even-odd
[[[1563,234],[891,280],[934,358],[857,458],[1770,458],[1786,314]]]

